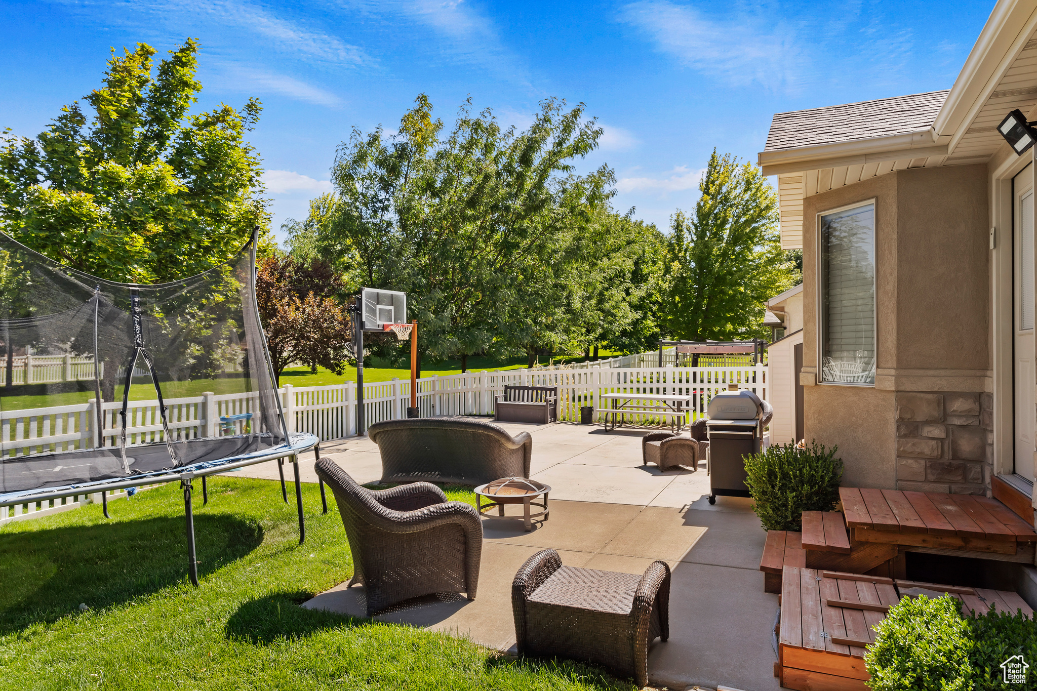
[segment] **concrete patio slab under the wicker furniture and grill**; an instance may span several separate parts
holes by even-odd
[[[642,573],[653,559],[673,570],[670,640],[649,654],[652,684],[778,689],[772,629],[778,598],[763,593],[760,555],[766,534],[748,499],[706,497],[705,464],[697,472],[660,472],[641,464],[641,437],[649,430],[606,432],[600,426],[502,424],[533,436],[532,477],[552,486],[551,516],[525,532],[521,521],[486,518],[478,597],[427,598],[375,618],[466,636],[500,651],[514,645],[511,580],[537,550],[558,550],[568,566]],[[360,483],[381,478],[377,447],[367,438],[325,443]],[[316,482],[313,455],[300,463],[302,479]],[[271,462],[243,470],[278,478]],[[291,479],[285,465],[286,480]],[[331,497],[329,496],[329,499]],[[513,508],[509,508],[509,514]],[[343,535],[344,539],[344,535]],[[363,588],[341,584],[305,607],[362,616]]]

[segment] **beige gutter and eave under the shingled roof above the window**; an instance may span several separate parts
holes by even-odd
[[[909,155],[905,156],[905,153]],[[932,127],[929,127],[902,135],[801,146],[794,149],[760,151],[757,163],[763,169],[764,175],[781,175],[835,166],[854,166],[879,161],[937,155],[947,155],[947,145],[936,144]]]

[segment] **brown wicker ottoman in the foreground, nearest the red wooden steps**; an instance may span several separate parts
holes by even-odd
[[[511,607],[520,655],[595,662],[648,684],[648,646],[670,637],[670,567],[644,575],[562,566],[544,549],[518,569]]]

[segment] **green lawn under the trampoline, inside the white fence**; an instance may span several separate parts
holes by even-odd
[[[316,485],[304,485],[300,547],[295,505],[276,483],[219,478],[208,491],[195,509],[197,588],[174,485],[112,502],[110,521],[90,506],[0,527],[0,686],[633,688],[593,666],[510,660],[444,634],[303,609],[352,574],[334,501],[321,515]]]

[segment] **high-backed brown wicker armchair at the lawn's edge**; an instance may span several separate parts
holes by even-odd
[[[346,587],[364,586],[368,616],[433,593],[464,592],[475,600],[482,554],[475,509],[447,501],[429,483],[369,490],[328,458],[316,471],[335,493],[349,540],[354,572]]]

